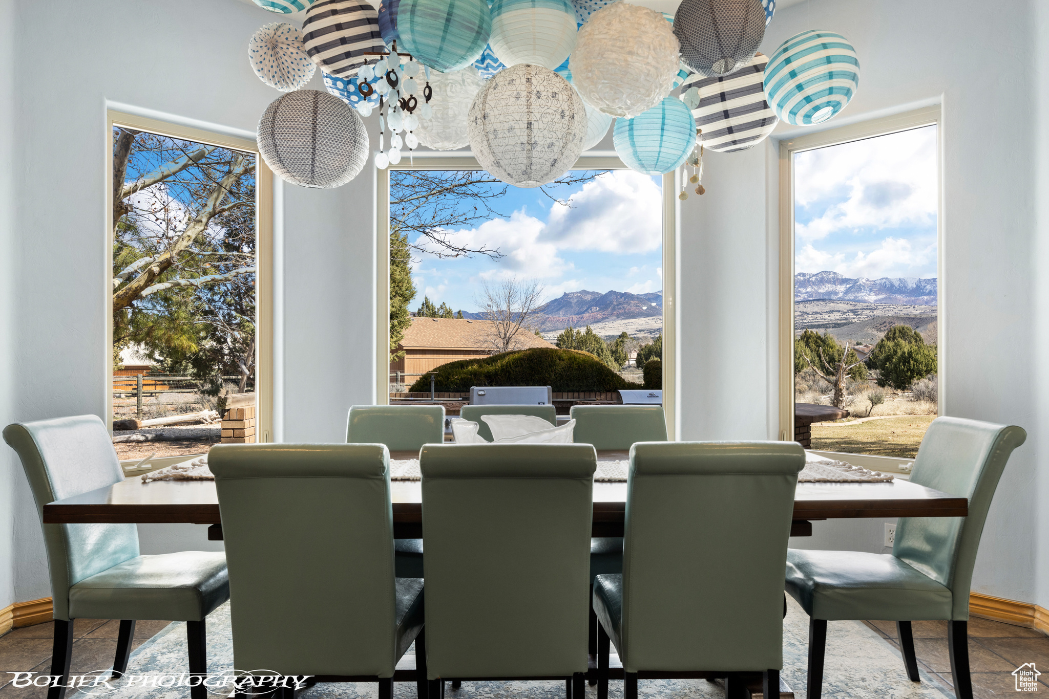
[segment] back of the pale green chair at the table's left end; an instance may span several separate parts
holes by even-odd
[[[51,574],[52,614],[69,618],[69,588],[138,555],[133,524],[44,524],[43,507],[124,480],[106,425],[98,415],[76,415],[4,428],[18,452],[44,530]]]

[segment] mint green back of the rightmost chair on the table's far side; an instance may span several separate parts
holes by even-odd
[[[666,441],[662,406],[573,406],[570,415],[576,421],[573,441],[596,450]]]

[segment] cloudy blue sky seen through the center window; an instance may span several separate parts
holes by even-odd
[[[663,288],[662,195],[657,177],[617,170],[584,184],[551,189],[572,206],[556,203],[535,189],[508,188],[494,218],[451,232],[464,244],[485,242],[505,257],[438,260],[420,256],[412,264],[418,289],[414,310],[428,296],[434,304],[473,311],[485,281],[537,279],[544,297],[565,291],[631,291]]]

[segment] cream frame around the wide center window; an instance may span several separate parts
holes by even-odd
[[[414,162],[411,162],[414,160]],[[616,155],[582,155],[572,170],[627,170]],[[376,405],[389,403],[389,191],[390,170],[484,170],[472,155],[449,155],[429,152],[414,153],[395,166],[377,170],[376,192]],[[663,175],[663,413],[666,418],[667,439],[673,441],[679,434],[677,410],[677,197],[680,176],[678,171]]]

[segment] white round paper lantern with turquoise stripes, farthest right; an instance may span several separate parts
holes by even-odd
[[[831,118],[844,109],[858,87],[856,50],[833,31],[794,35],[765,66],[765,99],[776,116],[795,126]]]

